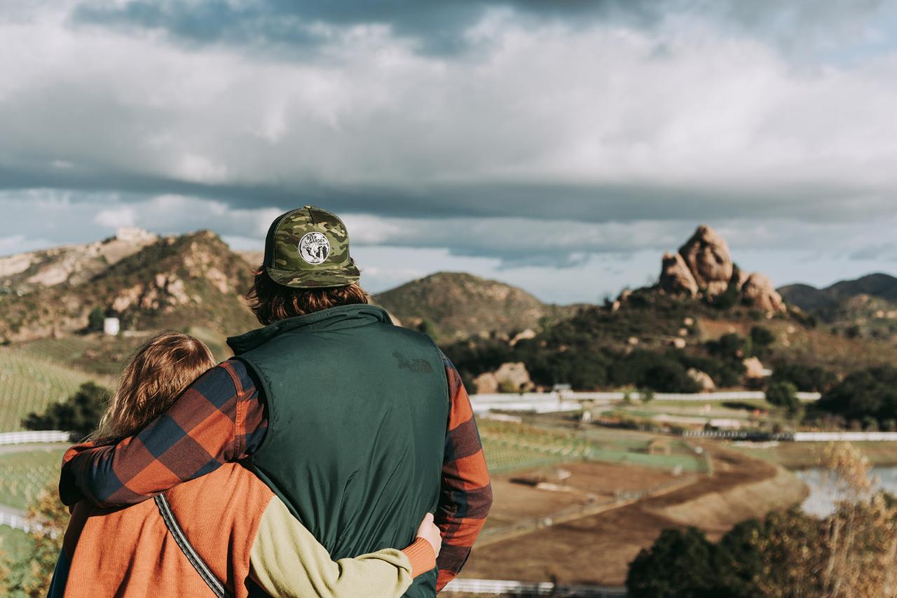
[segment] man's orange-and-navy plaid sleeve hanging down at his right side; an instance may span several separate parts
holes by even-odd
[[[455,366],[444,355],[442,360],[451,404],[440,504],[436,509],[436,524],[442,530],[442,550],[436,559],[439,568],[437,590],[464,567],[492,507],[492,485],[470,398]]]

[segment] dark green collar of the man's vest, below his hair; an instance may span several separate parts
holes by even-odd
[[[264,328],[250,330],[246,334],[231,336],[228,338],[227,343],[233,350],[234,355],[240,355],[265,344],[279,334],[300,330],[311,325],[318,325],[315,326],[316,328],[320,326],[338,328],[341,325],[364,325],[364,320],[367,320],[367,323],[392,324],[389,314],[383,308],[370,304],[342,305],[337,308],[316,311],[305,316],[288,317],[285,320],[266,325]]]

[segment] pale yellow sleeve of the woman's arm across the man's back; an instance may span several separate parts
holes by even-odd
[[[411,562],[401,550],[334,561],[276,496],[258,526],[249,565],[252,579],[275,597],[399,598],[413,581]]]

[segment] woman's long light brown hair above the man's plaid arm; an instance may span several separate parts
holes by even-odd
[[[134,435],[215,363],[212,351],[199,339],[175,332],[156,334],[135,352],[121,373],[118,390],[91,438]]]

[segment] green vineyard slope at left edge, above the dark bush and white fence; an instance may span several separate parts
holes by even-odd
[[[22,429],[22,418],[62,401],[90,380],[108,384],[83,371],[21,349],[0,349],[0,432]]]

